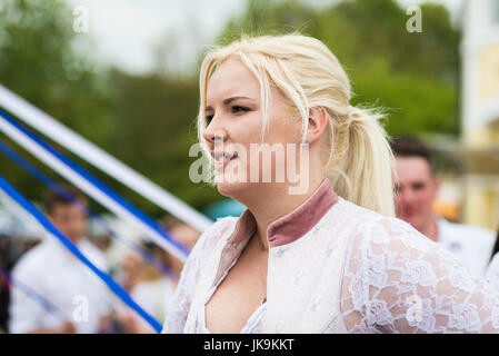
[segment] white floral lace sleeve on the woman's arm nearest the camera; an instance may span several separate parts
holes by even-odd
[[[347,253],[349,333],[498,333],[499,295],[408,224],[380,218]]]

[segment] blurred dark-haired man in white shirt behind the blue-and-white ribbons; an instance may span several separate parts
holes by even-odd
[[[84,196],[71,186],[63,189],[86,206]],[[51,222],[98,268],[107,271],[103,255],[84,237],[87,218],[78,204],[49,192],[46,208]],[[104,283],[56,238],[48,236],[23,255],[12,270],[13,283],[28,286],[52,304],[49,312],[39,300],[12,288],[10,333],[103,333],[110,327],[112,296]]]

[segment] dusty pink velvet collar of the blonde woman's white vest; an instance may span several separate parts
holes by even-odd
[[[290,244],[306,235],[337,201],[338,195],[332,190],[330,180],[326,178],[302,205],[269,225],[267,229],[269,247]],[[255,217],[249,209],[246,209],[228,243],[244,240],[256,230]]]

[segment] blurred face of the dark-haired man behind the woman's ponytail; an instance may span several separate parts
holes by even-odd
[[[433,217],[433,201],[440,186],[430,165],[421,157],[397,157],[397,217],[422,230]]]

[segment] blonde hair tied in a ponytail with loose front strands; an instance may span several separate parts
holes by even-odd
[[[216,47],[204,57],[200,72],[198,135],[203,138],[206,96],[210,76],[229,57],[239,58],[260,83],[263,123],[269,126],[270,88],[277,88],[302,121],[307,136],[309,111],[323,107],[329,116],[327,177],[342,198],[383,215],[393,215],[393,155],[379,120],[381,113],[350,106],[350,81],[340,62],[318,39],[291,33],[242,37],[226,47]]]

